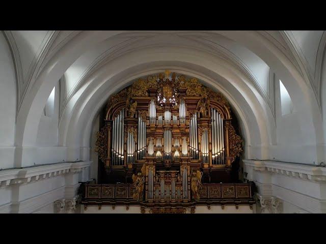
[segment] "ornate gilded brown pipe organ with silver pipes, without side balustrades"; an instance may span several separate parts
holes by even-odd
[[[198,201],[202,184],[231,182],[241,138],[227,100],[196,78],[141,78],[112,95],[105,114],[97,141],[105,177],[124,177],[137,201]]]

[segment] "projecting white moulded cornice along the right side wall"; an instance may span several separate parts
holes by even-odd
[[[271,174],[282,174],[289,177],[326,182],[326,167],[291,164],[275,161],[242,160],[254,170]]]

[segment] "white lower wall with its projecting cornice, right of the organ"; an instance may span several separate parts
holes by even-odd
[[[281,212],[326,213],[326,168],[259,160],[243,163],[258,194],[281,200]]]

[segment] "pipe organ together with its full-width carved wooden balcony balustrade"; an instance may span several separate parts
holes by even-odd
[[[253,184],[239,178],[237,120],[197,78],[167,70],[138,79],[108,99],[100,126],[98,182],[85,185],[85,207],[194,212],[255,202]]]

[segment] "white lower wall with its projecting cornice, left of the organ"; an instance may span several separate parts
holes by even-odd
[[[89,180],[90,165],[61,163],[0,171],[0,213],[53,212],[55,201],[76,197],[79,182]]]

